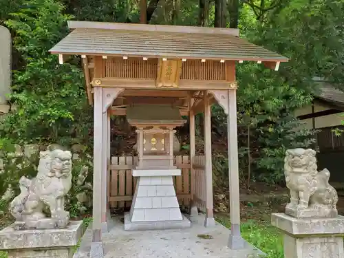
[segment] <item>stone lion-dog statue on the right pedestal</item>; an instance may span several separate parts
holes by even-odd
[[[292,217],[336,217],[338,195],[329,184],[330,172],[317,171],[316,152],[312,149],[288,149],[284,160],[290,203],[286,214]]]

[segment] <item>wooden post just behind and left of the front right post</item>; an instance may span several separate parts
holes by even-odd
[[[211,105],[208,92],[204,91],[204,158],[206,173],[206,219],[204,226],[215,226],[213,215],[213,164],[211,155]]]

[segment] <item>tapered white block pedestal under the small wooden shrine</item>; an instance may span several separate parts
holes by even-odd
[[[139,177],[125,230],[187,228],[191,222],[182,216],[173,186],[173,175],[180,169],[133,170]]]

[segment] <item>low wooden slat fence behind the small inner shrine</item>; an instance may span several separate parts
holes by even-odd
[[[107,195],[111,208],[125,208],[131,206],[136,187],[136,178],[131,175],[133,164],[137,156],[112,157],[110,173],[107,176]],[[173,177],[175,192],[180,205],[189,206],[191,195],[197,206],[205,208],[205,174],[204,156],[196,156],[191,175],[189,156],[176,156],[175,166],[182,170],[182,174]],[[192,184],[193,183],[193,184]],[[193,185],[193,189],[191,189]]]

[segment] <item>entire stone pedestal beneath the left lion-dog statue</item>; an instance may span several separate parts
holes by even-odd
[[[0,231],[0,250],[8,258],[71,258],[83,235],[83,222],[69,222],[66,228],[15,230],[14,225]]]

